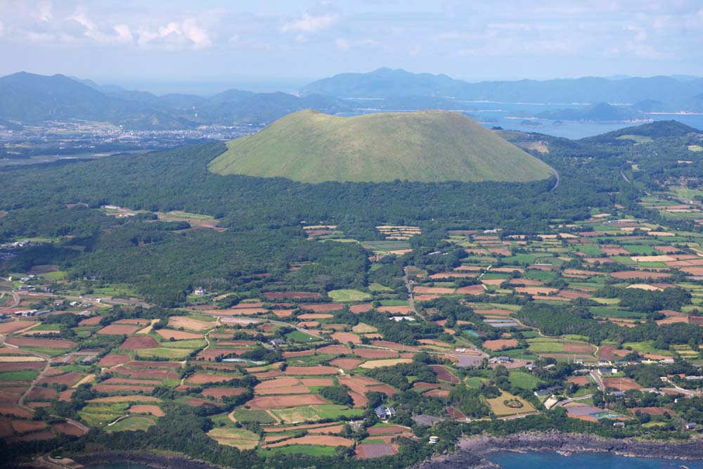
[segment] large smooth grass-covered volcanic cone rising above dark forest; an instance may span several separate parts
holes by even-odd
[[[339,117],[303,110],[227,142],[218,174],[294,181],[534,181],[549,167],[458,113],[429,110]],[[427,152],[441,158],[427,158]],[[328,158],[334,154],[335,158]]]

